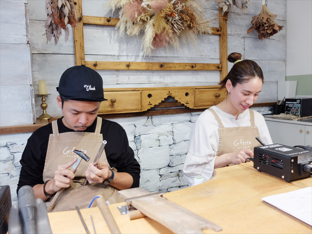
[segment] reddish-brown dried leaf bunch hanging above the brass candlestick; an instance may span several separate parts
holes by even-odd
[[[77,18],[73,0],[45,0],[45,12],[47,20],[45,21],[45,36],[48,41],[54,37],[55,45],[58,44],[62,35],[62,29],[65,31],[65,41],[68,40],[68,24],[76,27]]]

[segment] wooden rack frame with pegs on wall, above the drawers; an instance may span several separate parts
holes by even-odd
[[[82,0],[74,0],[78,16],[77,27],[74,28],[74,47],[76,65],[84,64],[95,70],[182,70],[182,71],[220,71],[220,80],[228,74],[227,50],[227,13],[222,16],[219,8],[219,27],[213,27],[212,35],[220,38],[220,63],[181,63],[181,62],[116,62],[116,61],[86,61],[84,52],[83,24],[116,26],[118,18],[83,16]],[[223,19],[223,20],[222,20]]]

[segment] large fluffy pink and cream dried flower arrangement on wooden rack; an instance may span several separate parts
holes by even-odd
[[[110,0],[108,7],[119,13],[120,36],[137,36],[143,32],[143,54],[174,46],[179,48],[179,37],[184,43],[196,42],[197,33],[212,33],[201,8],[202,0]]]

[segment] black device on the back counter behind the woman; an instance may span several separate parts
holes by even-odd
[[[312,98],[286,98],[285,113],[300,117],[312,116]]]

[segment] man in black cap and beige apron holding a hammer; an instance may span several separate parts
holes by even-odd
[[[36,198],[46,201],[54,211],[87,208],[96,195],[110,203],[123,201],[117,190],[139,186],[140,167],[130,148],[124,129],[117,123],[97,117],[103,94],[100,75],[84,65],[67,69],[60,78],[58,105],[63,117],[39,128],[28,139],[20,164],[21,186],[30,185]],[[92,163],[103,140],[107,141],[98,166]],[[74,150],[91,159],[77,161]],[[87,178],[90,185],[82,186]],[[53,196],[65,188],[56,206]]]

